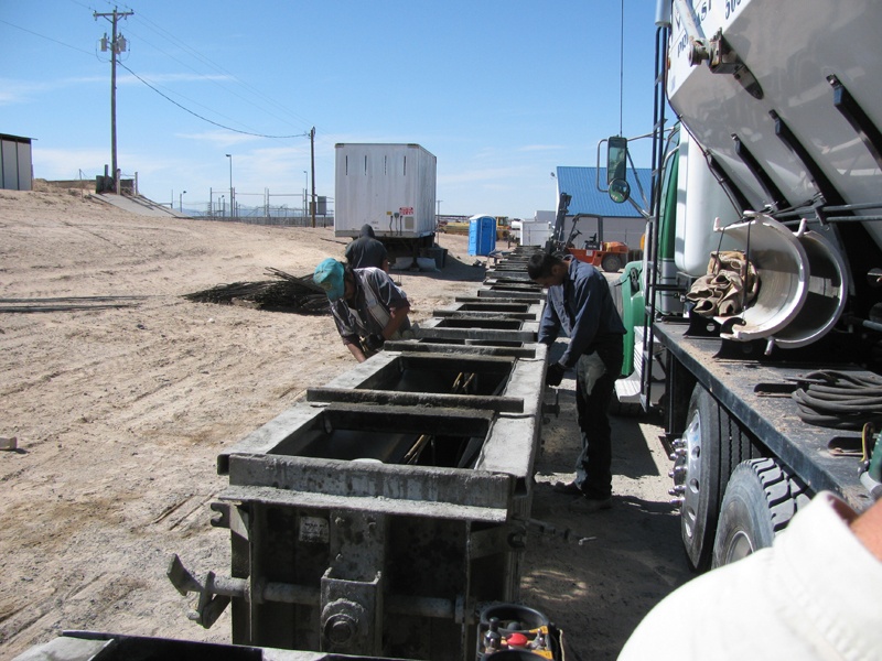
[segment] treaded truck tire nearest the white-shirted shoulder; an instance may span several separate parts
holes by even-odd
[[[775,459],[740,464],[725,488],[713,541],[712,566],[733,563],[771,546],[775,535],[808,501],[805,485]]]

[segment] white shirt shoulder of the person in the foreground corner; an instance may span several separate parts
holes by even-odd
[[[770,549],[693,578],[663,599],[620,661],[880,659],[882,563],[822,492]]]

